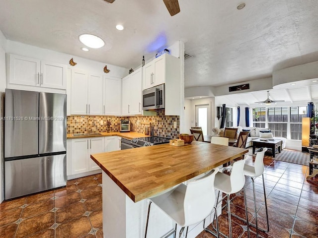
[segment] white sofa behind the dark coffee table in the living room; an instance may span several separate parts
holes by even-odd
[[[246,127],[246,126],[232,126],[233,128],[238,128],[238,135],[237,138],[239,137],[239,132],[240,131],[249,131],[249,136],[246,141],[246,146],[250,147],[252,146],[252,140],[256,140],[258,138],[272,138],[270,134],[270,129],[269,128],[259,128],[259,127]],[[221,129],[220,136],[223,136],[224,130]],[[282,140],[282,148],[284,149],[286,147],[286,138],[285,137],[273,137],[274,139],[277,140]]]

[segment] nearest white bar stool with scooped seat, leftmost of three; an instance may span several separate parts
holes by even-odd
[[[216,213],[217,209],[214,206],[216,200],[214,179],[218,171],[219,169],[216,168],[204,177],[189,181],[187,185],[180,183],[172,190],[169,189],[165,193],[149,198],[150,203],[148,206],[145,238],[147,238],[152,203],[156,204],[176,225],[181,227],[179,238],[181,238],[185,227],[187,228],[185,237],[187,237],[188,227],[190,225],[204,221],[205,218],[212,213],[213,209]],[[219,234],[217,219],[216,223],[217,234]],[[174,237],[176,237],[176,225],[175,229],[166,237],[170,237],[172,234],[175,234]],[[219,235],[217,237],[219,238]]]

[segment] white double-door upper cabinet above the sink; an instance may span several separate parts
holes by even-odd
[[[103,114],[103,76],[72,70],[71,115]]]

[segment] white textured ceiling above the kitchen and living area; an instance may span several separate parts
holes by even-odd
[[[318,0],[245,0],[237,10],[240,1],[179,0],[181,11],[171,17],[161,0],[0,0],[0,30],[8,40],[126,68],[141,65],[143,55],[152,59],[157,52],[149,47],[159,36],[163,48],[180,40],[194,56],[185,61],[185,87],[258,79],[318,60]],[[119,23],[125,30],[115,29]],[[83,52],[82,33],[106,45]],[[272,98],[303,99],[305,91]],[[242,100],[267,98],[248,95]]]

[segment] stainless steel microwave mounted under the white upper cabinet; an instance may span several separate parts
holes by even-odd
[[[164,108],[164,84],[143,90],[143,110]]]

